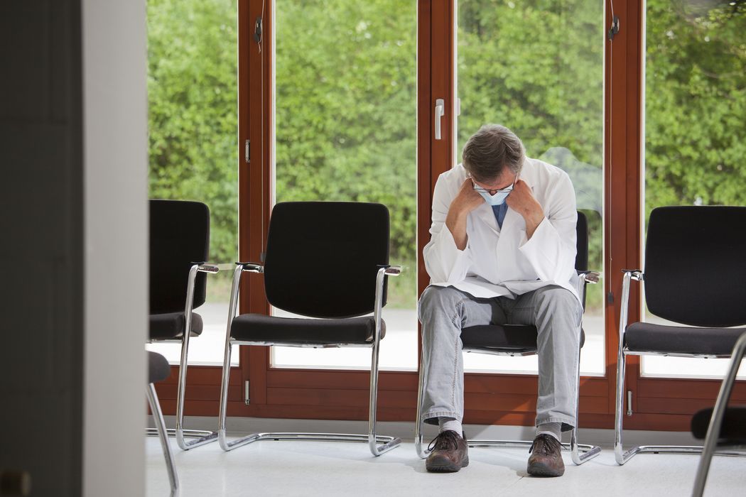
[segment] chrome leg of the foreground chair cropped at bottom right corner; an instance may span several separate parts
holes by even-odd
[[[739,367],[741,366],[741,361],[745,354],[746,333],[741,335],[741,338],[736,342],[736,346],[733,347],[733,353],[730,355],[730,366],[728,366],[728,372],[720,386],[720,393],[718,393],[718,400],[715,402],[715,408],[712,409],[712,417],[710,418],[709,427],[707,428],[707,434],[704,439],[702,456],[700,457],[700,462],[697,467],[697,477],[695,478],[695,487],[692,491],[692,497],[702,497],[702,494],[704,493],[707,473],[709,472],[709,464],[718,447],[718,439],[720,438],[720,430],[723,425],[725,410],[728,406],[728,399],[730,399],[730,393],[733,391],[733,385],[736,384],[736,375],[739,372]],[[733,455],[730,451],[723,452],[721,450],[718,451],[718,454]],[[742,452],[737,452],[736,455],[744,454]]]

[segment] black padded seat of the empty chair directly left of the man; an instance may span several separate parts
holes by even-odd
[[[386,323],[380,322],[380,338]],[[233,318],[231,337],[238,341],[259,341],[287,345],[372,344],[373,317],[347,319],[307,319],[242,314]]]

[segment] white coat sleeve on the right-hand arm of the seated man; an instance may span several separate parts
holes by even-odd
[[[567,174],[560,174],[545,202],[544,219],[527,239],[522,236],[519,250],[528,259],[539,279],[566,282],[575,272],[577,253],[577,210],[575,191]]]

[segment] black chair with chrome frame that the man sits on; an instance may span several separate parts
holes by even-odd
[[[578,275],[578,293],[586,297],[586,284],[597,283],[600,274],[588,270],[588,220],[583,212],[577,213],[577,255],[575,256],[575,269]],[[477,352],[480,354],[524,356],[535,355],[536,349],[536,327],[515,325],[484,325],[471,326],[461,331],[461,341],[464,352]],[[580,348],[583,348],[585,333],[580,330]],[[421,359],[420,364],[422,364]],[[415,449],[420,458],[426,458],[429,451],[424,449],[422,443],[422,389],[424,387],[424,371],[420,367],[419,389],[417,395],[417,420],[415,424]],[[578,354],[578,376],[577,391],[580,389],[580,354]],[[580,395],[578,395],[580,399]],[[575,407],[575,419],[577,420],[578,409]],[[468,440],[468,446],[498,446],[505,448],[528,448],[533,440]],[[577,443],[577,427],[573,428],[570,435],[570,443],[563,443],[562,447],[568,449],[575,464],[582,464],[587,460],[595,458],[601,453],[601,447],[590,445],[579,445]]]

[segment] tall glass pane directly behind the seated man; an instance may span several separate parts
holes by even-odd
[[[510,127],[527,155],[572,180],[589,221],[589,268],[603,269],[604,5],[590,0],[458,2],[457,162],[482,124]],[[605,373],[603,280],[589,285],[583,374]],[[466,354],[467,370],[536,373],[536,356]]]

